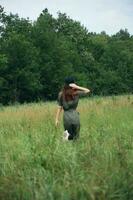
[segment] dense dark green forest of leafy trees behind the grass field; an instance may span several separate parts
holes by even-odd
[[[90,32],[47,9],[32,22],[0,6],[0,104],[55,100],[68,75],[92,95],[132,93],[133,36]]]

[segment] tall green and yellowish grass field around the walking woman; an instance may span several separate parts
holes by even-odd
[[[56,109],[0,107],[0,200],[132,200],[133,96],[80,100],[76,142]]]

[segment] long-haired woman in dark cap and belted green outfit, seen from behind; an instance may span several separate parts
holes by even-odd
[[[65,78],[64,88],[58,95],[59,108],[55,120],[55,125],[58,126],[61,111],[64,110],[63,124],[65,140],[73,140],[79,136],[80,120],[76,108],[79,97],[89,92],[89,89],[76,85],[72,77]]]

